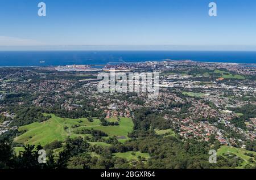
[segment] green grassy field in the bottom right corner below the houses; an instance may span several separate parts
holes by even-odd
[[[229,147],[227,145],[222,145],[220,147],[220,149],[218,149],[218,151],[217,151],[217,156],[223,156],[223,155],[225,155],[225,153],[233,153],[236,156],[238,156],[244,160],[244,162],[242,163],[242,166],[237,167],[237,168],[243,168],[243,166],[245,166],[246,164],[253,165],[251,162],[248,161],[249,158],[251,158],[251,157],[244,155],[244,153],[252,153],[252,154],[256,155],[256,152],[254,152],[254,151],[247,151],[246,149],[242,149],[242,148],[235,148],[235,147]],[[223,157],[225,157],[225,156],[223,156]]]

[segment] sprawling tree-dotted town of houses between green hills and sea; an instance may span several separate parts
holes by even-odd
[[[97,87],[101,79],[97,78],[98,74],[110,74],[113,69],[125,74],[158,72],[158,96],[148,98],[146,91],[115,92],[109,89],[99,92]],[[0,134],[18,131],[20,126],[39,119],[39,122],[47,120],[42,115],[27,117],[30,112],[27,107],[63,118],[98,117],[102,124],[105,121],[102,119],[138,119],[138,111],[149,109],[156,118],[150,120],[147,129],[156,135],[171,135],[184,141],[217,141],[220,145],[248,149],[247,145],[256,137],[255,77],[253,64],[171,59],[102,68],[91,65],[1,67]],[[23,109],[26,109],[25,114],[20,114]],[[69,134],[76,132],[77,127],[71,126]],[[15,133],[20,135],[21,132]],[[129,133],[115,137],[124,141],[132,137],[132,132]],[[109,142],[102,138],[89,138],[89,141]]]

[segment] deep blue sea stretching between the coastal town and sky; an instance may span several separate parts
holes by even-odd
[[[163,61],[256,63],[256,52],[234,51],[0,51],[0,66],[105,65]]]

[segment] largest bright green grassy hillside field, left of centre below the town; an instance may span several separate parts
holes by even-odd
[[[73,130],[77,128],[93,128],[94,130],[101,130],[109,136],[120,136],[122,137],[121,142],[123,142],[123,140],[128,139],[127,135],[129,132],[133,131],[134,126],[130,118],[120,118],[120,121],[118,121],[119,126],[101,126],[99,119],[94,119],[93,122],[89,122],[86,118],[69,119],[56,117],[54,114],[49,115],[51,115],[51,118],[47,121],[41,123],[34,122],[30,125],[19,127],[19,131],[26,132],[16,137],[14,141],[24,144],[46,145],[54,140],[63,141],[68,138],[68,136],[71,138],[91,136],[90,134],[75,134]],[[74,127],[74,125],[79,127]],[[65,130],[64,127],[67,129]]]

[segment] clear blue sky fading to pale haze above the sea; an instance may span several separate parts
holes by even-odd
[[[46,3],[45,17],[38,16],[39,2]],[[210,2],[216,17],[208,15]],[[2,49],[55,45],[256,50],[256,1],[0,0]]]

